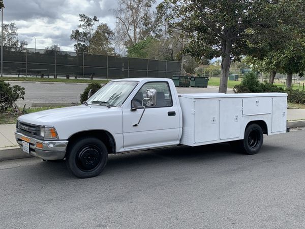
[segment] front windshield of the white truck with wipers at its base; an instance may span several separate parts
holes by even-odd
[[[114,81],[104,85],[97,93],[87,100],[87,103],[101,101],[110,106],[120,106],[134,90],[137,81]]]

